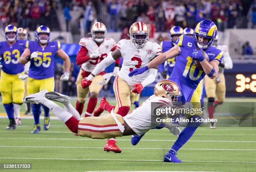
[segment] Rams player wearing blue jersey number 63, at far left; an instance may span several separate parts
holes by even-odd
[[[18,77],[23,72],[24,65],[19,63],[20,55],[25,49],[26,41],[17,40],[17,27],[8,25],[5,27],[6,41],[0,42],[0,56],[2,71],[0,78],[0,92],[3,105],[10,120],[6,129],[16,128],[14,113],[20,113],[20,105],[23,103],[24,82]]]

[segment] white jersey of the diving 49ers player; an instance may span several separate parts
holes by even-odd
[[[151,103],[155,103],[154,105]],[[166,117],[157,116],[156,114],[151,114],[151,108],[154,110],[160,103],[161,105],[166,105],[172,107],[172,101],[155,95],[151,95],[145,102],[137,107],[135,110],[131,111],[128,115],[123,117],[123,120],[131,127],[131,129],[136,132],[137,135],[142,135],[151,128],[157,127],[161,122],[157,122],[156,118],[165,119]],[[153,112],[152,112],[153,113]]]

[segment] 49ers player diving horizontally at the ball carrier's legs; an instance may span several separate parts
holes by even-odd
[[[173,106],[173,103],[177,103],[177,97],[179,96],[181,96],[181,91],[175,82],[162,80],[155,85],[154,95],[125,117],[112,112],[100,117],[88,117],[84,119],[80,119],[79,113],[70,104],[70,97],[57,92],[43,90],[27,96],[26,100],[33,103],[41,103],[49,107],[56,117],[67,125],[69,130],[78,133],[79,136],[90,137],[92,139],[105,139],[134,134],[142,135],[148,130],[159,126],[161,123],[160,120],[179,115],[178,113],[161,113],[161,108],[165,109],[168,107],[190,110],[192,108],[191,103]],[[51,100],[61,102],[64,105],[64,109]],[[168,157],[168,161],[166,161],[166,157]],[[166,162],[172,162],[169,161],[170,158],[176,157],[175,155],[164,155]]]

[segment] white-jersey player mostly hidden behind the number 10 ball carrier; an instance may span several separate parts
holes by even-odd
[[[233,62],[230,58],[228,47],[226,45],[218,44],[218,35],[216,36],[213,46],[223,52],[223,61],[219,64],[219,72],[217,76],[212,80],[208,76],[205,76],[205,92],[208,98],[207,110],[209,118],[214,118],[214,109],[217,105],[223,104],[226,94],[226,84],[224,69],[232,69]],[[215,122],[210,122],[210,128],[216,128]]]

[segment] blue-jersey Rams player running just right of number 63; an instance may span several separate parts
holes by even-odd
[[[33,94],[41,90],[54,91],[54,56],[64,60],[65,73],[60,80],[69,79],[70,59],[61,49],[59,41],[50,40],[50,29],[46,26],[39,26],[36,29],[36,40],[27,41],[26,49],[20,57],[20,63],[26,64],[31,61],[28,72],[28,94]],[[34,127],[32,133],[38,133],[41,130],[39,117],[41,114],[41,105],[32,104],[34,115]],[[43,105],[44,109],[44,130],[50,128],[49,108]]]

